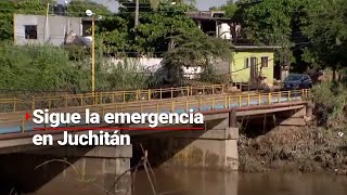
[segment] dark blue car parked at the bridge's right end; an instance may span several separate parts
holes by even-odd
[[[297,90],[312,88],[312,79],[306,74],[290,74],[283,80],[283,89]]]

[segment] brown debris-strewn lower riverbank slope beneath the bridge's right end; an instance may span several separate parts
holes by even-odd
[[[337,133],[310,125],[275,128],[255,139],[241,135],[240,170],[347,176],[347,135],[339,136]]]

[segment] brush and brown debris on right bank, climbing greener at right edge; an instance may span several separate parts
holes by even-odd
[[[275,127],[253,139],[241,135],[241,170],[347,174],[346,86],[324,81],[313,87],[312,95],[314,120],[309,126]]]

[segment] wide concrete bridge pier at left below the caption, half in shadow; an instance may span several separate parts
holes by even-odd
[[[130,169],[131,145],[54,146],[3,156],[3,165],[13,166],[4,169],[9,170],[4,176],[18,176],[13,183],[25,183],[25,193],[50,194],[54,190],[54,194],[78,194],[83,190],[131,195],[131,174],[126,172]]]

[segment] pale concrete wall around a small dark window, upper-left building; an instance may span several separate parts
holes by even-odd
[[[25,26],[37,26],[37,39],[25,38]],[[14,15],[14,42],[17,46],[42,44],[49,42],[53,46],[64,43],[66,31],[74,31],[76,35],[82,35],[80,17],[49,16],[47,27],[44,15]],[[44,40],[46,35],[46,40]]]

